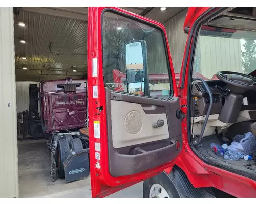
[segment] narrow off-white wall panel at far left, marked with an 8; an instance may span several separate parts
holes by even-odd
[[[13,7],[0,7],[0,197],[18,197]]]

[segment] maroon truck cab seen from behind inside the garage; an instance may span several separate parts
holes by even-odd
[[[42,125],[46,133],[84,127],[87,115],[86,80],[40,83]]]

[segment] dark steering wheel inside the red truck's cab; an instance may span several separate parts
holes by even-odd
[[[256,90],[256,78],[233,71],[218,71],[217,78],[225,82],[232,93],[242,94],[247,90]]]

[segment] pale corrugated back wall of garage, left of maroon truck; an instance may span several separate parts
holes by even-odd
[[[16,81],[17,112],[29,110],[29,84],[39,86],[39,82]],[[40,109],[38,111],[40,112]]]

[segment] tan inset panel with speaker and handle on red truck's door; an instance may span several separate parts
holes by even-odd
[[[111,100],[111,116],[114,148],[169,138],[165,113],[146,114],[141,104]],[[158,120],[163,120],[164,125],[154,128]]]

